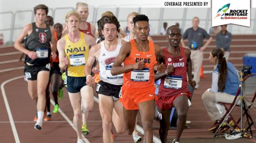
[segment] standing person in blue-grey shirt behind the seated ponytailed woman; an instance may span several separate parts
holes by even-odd
[[[228,61],[230,57],[230,43],[232,39],[232,35],[230,32],[228,32],[227,25],[222,25],[222,31],[220,31],[216,35],[216,46],[217,49],[222,49],[224,51],[224,56],[226,58],[226,61]]]

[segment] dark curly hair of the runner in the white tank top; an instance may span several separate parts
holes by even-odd
[[[115,16],[109,17],[109,16],[103,16],[99,22],[98,22],[98,26],[99,26],[99,30],[103,30],[103,27],[105,24],[114,24],[116,25],[116,29],[117,32],[120,31],[120,24],[119,21],[117,20],[117,18]]]

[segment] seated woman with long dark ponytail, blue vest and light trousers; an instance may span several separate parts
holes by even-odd
[[[210,52],[209,60],[215,64],[215,69],[212,72],[212,85],[207,89],[203,95],[202,100],[206,108],[207,114],[215,123],[210,127],[209,131],[215,131],[219,120],[224,116],[224,111],[220,114],[216,103],[232,103],[237,93],[237,89],[240,85],[239,76],[234,65],[230,62],[226,62],[224,52],[220,49],[213,49]],[[219,104],[220,107],[224,106]],[[230,125],[233,125],[233,121],[230,118],[227,119]],[[221,129],[220,131],[224,130]]]

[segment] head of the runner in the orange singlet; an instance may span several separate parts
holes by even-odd
[[[141,41],[148,40],[150,31],[148,21],[148,17],[144,14],[139,14],[133,18],[134,33],[136,34],[137,39]]]

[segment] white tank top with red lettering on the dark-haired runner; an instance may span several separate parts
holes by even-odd
[[[110,73],[112,65],[115,62],[117,55],[119,54],[121,48],[121,39],[118,39],[116,49],[114,51],[107,51],[104,45],[104,41],[100,42],[100,79],[104,82],[108,82],[112,85],[122,85],[123,84],[123,74],[118,74],[113,76]]]

